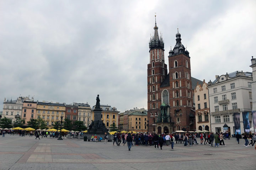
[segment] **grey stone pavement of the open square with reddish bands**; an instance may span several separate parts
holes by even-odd
[[[0,137],[0,170],[153,170],[153,169],[225,169],[256,170],[256,150],[237,144],[234,138],[226,146],[133,146],[131,151],[112,142],[10,136]],[[173,168],[172,168],[173,167]]]

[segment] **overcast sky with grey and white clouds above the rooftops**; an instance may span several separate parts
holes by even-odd
[[[251,72],[255,8],[254,0],[0,0],[0,100],[92,107],[99,94],[120,112],[147,108],[155,13],[166,64],[178,27],[192,77]]]

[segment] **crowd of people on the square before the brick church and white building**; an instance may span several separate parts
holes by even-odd
[[[239,143],[240,138],[245,139],[245,146],[248,146],[247,138],[251,140],[251,145],[254,147],[254,143],[256,142],[256,135],[252,136],[251,132],[249,136],[243,135],[243,137],[239,134],[234,135],[236,137],[236,140]],[[107,135],[105,134],[105,143],[107,141]],[[197,141],[197,139],[200,138],[200,142]],[[207,133],[174,133],[174,134],[157,134],[157,133],[140,133],[140,134],[134,134],[131,133],[121,133],[117,132],[113,135],[113,146],[121,146],[121,142],[123,146],[127,143],[128,149],[130,151],[131,146],[154,146],[155,148],[162,149],[162,146],[171,146],[172,149],[174,149],[174,142],[176,144],[183,144],[184,146],[194,146],[194,145],[209,145],[210,147],[219,147],[219,146],[226,146],[224,140],[230,139],[230,136],[228,133],[213,133],[213,132],[207,132]],[[249,144],[249,145],[250,145]],[[255,146],[256,147],[256,146]]]

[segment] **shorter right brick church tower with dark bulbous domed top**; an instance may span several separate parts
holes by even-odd
[[[191,131],[195,128],[191,67],[189,52],[176,34],[176,45],[169,52],[170,117],[173,131]]]

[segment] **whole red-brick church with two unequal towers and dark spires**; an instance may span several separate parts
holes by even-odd
[[[176,34],[176,45],[169,51],[169,73],[165,64],[164,41],[154,27],[149,41],[148,120],[149,131],[169,133],[196,129],[194,87],[202,81],[191,77],[190,55]]]

